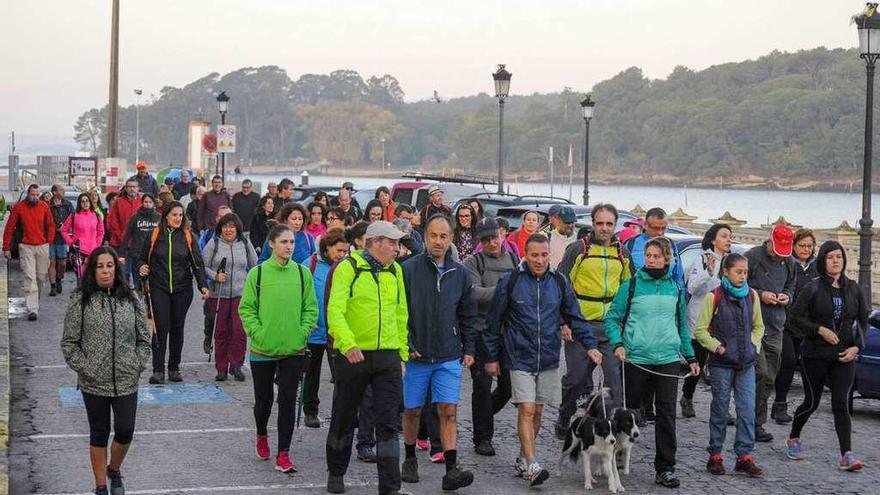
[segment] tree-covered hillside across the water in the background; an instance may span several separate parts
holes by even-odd
[[[405,102],[392,75],[365,79],[338,70],[294,81],[275,66],[212,73],[182,88],[163,88],[141,105],[141,157],[182,164],[189,120],[216,123],[214,96],[220,90],[232,97],[227,122],[240,126],[230,163],[379,164],[385,139],[387,160],[396,165],[490,174],[496,167],[498,105],[491,95]],[[854,49],[774,51],[701,71],[678,66],[653,80],[630,67],[596,84],[592,94],[597,104],[590,156],[598,172],[822,178],[860,169],[865,70]],[[549,146],[561,163],[572,144],[580,163],[582,98],[571,88],[510,97],[510,170],[542,169]],[[122,108],[119,121],[120,154],[132,160],[135,107]],[[105,126],[106,108],[88,110],[74,126],[75,139],[83,150],[101,155]]]

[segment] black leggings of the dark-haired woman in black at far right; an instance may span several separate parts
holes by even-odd
[[[849,416],[849,391],[856,376],[854,362],[801,359],[801,377],[804,380],[804,402],[794,412],[789,438],[800,438],[801,430],[813,411],[822,402],[822,389],[828,380],[831,389],[831,412],[840,453],[852,450],[852,419]]]

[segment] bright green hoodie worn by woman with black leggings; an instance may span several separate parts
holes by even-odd
[[[293,260],[282,266],[274,256],[248,272],[238,315],[254,354],[283,358],[299,354],[318,323],[312,274]]]

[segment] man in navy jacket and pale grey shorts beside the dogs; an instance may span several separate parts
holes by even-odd
[[[568,280],[550,269],[547,237],[533,234],[526,240],[524,261],[518,270],[498,281],[483,343],[486,372],[490,375],[498,374],[500,349],[504,349],[505,365],[511,370],[511,400],[517,408],[520,442],[520,456],[514,467],[517,476],[537,486],[550,477],[535,461],[535,436],[541,428],[544,404],[558,404],[562,394],[562,339],[576,338],[597,365],[602,363],[602,353]]]

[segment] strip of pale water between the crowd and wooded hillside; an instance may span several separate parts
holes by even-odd
[[[269,181],[278,182],[283,176],[277,174],[250,176],[255,181],[261,181],[263,188]],[[299,183],[299,176],[290,176]],[[309,177],[312,185],[340,185],[344,181],[354,182],[355,187],[376,188],[388,186],[389,188],[397,181],[411,179],[400,178],[375,178],[355,177],[345,178],[339,176]],[[509,183],[506,185],[514,194],[550,194],[550,183]],[[486,186],[487,190],[494,191],[495,186]],[[568,197],[568,184],[554,186],[556,196]],[[572,201],[581,202],[583,185],[574,185]],[[776,220],[780,215],[793,224],[804,225],[810,228],[833,228],[846,220],[855,228],[858,228],[858,219],[862,212],[861,194],[836,193],[836,192],[812,192],[812,191],[757,191],[738,189],[699,189],[694,187],[653,187],[653,186],[603,186],[590,187],[590,202],[613,203],[621,209],[629,210],[639,204],[644,209],[659,206],[668,213],[678,208],[684,209],[688,214],[696,216],[698,222],[708,223],[712,218],[718,218],[725,211],[741,220],[746,220],[746,227],[757,228],[762,224]],[[685,206],[687,205],[687,206]],[[880,198],[872,199],[872,211],[880,213]]]

